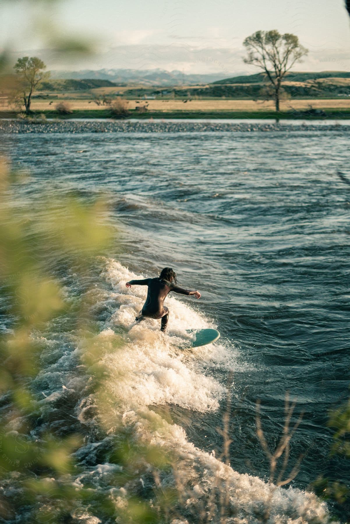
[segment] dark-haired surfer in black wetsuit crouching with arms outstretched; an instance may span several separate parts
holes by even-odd
[[[177,285],[176,272],[171,267],[165,267],[161,270],[159,277],[146,278],[145,280],[130,280],[126,282],[126,287],[132,286],[148,286],[148,293],[144,307],[136,317],[136,322],[144,320],[148,317],[151,319],[161,319],[160,331],[165,333],[169,320],[169,309],[164,305],[164,300],[170,293],[193,295],[195,298],[200,298],[199,291],[190,291],[188,289],[180,288]]]

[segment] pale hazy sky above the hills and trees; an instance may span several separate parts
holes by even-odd
[[[165,69],[257,72],[244,64],[245,37],[278,29],[309,49],[298,71],[350,71],[350,18],[344,0],[63,0],[0,7],[0,46],[41,57],[48,69]],[[45,13],[43,10],[45,9]],[[30,21],[30,23],[28,22]],[[54,35],[94,42],[92,56],[69,60]]]

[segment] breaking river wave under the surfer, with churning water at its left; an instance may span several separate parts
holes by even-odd
[[[190,337],[187,329],[213,326],[184,299],[168,297],[170,320],[166,335],[159,331],[159,321],[146,319],[135,324],[146,288],[127,289],[125,282],[132,278],[140,276],[115,259],[104,260],[93,309],[104,309],[108,314],[89,346],[99,355],[93,366],[86,364],[86,343],[76,333],[73,337],[66,333],[64,340],[61,335],[57,340],[47,340],[37,334],[43,347],[42,370],[34,386],[41,419],[54,429],[63,418],[66,427],[71,424],[85,434],[84,443],[75,452],[83,472],[70,482],[77,490],[90,486],[96,493],[108,494],[117,507],[127,505],[129,497],[135,494],[153,504],[149,494],[155,482],[154,472],[144,453],[151,446],[176,463],[175,472],[160,471],[157,480],[165,489],[176,488],[180,492],[182,505],[173,522],[196,522],[203,511],[207,518],[208,511],[212,511],[212,521],[220,521],[223,496],[229,514],[226,522],[328,521],[326,504],[315,495],[237,473],[218,460],[214,452],[204,452],[191,443],[179,424],[152,409],[176,405],[191,413],[216,411],[226,388],[215,370],[229,372],[237,370],[240,364],[237,349],[220,341],[195,351],[180,350],[179,344]],[[102,369],[105,377],[103,412],[94,389],[96,369]],[[16,430],[15,421],[12,429]],[[123,486],[116,487],[114,475],[123,466],[112,460],[113,450],[125,439],[137,452],[133,466],[136,474],[134,471]],[[84,519],[78,520],[96,521],[84,515]]]

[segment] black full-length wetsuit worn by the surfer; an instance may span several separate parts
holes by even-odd
[[[161,319],[161,331],[165,331],[168,324],[169,309],[165,307],[164,301],[170,291],[185,295],[194,293],[194,291],[180,288],[175,283],[159,277],[146,278],[145,280],[130,280],[129,283],[132,286],[148,286],[146,302],[137,320],[142,320],[145,316],[151,319]]]

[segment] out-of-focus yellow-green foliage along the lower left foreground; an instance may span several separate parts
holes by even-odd
[[[72,454],[86,442],[83,430],[61,435],[47,430],[41,438],[31,438],[43,416],[31,390],[31,377],[41,371],[42,346],[32,338],[36,330],[45,329],[50,321],[64,315],[68,325],[75,326],[82,342],[82,363],[86,381],[90,377],[90,393],[96,399],[97,423],[111,418],[110,399],[105,388],[108,370],[101,364],[98,330],[90,314],[94,303],[93,279],[96,258],[108,249],[115,249],[115,231],[104,225],[107,209],[102,200],[86,203],[69,196],[52,203],[42,196],[30,207],[18,196],[18,185],[24,183],[23,173],[16,173],[4,158],[0,185],[0,278],[4,283],[2,296],[7,299],[9,331],[0,334],[0,367],[2,427],[0,429],[0,478],[3,485],[18,490],[15,499],[2,496],[2,517],[19,522],[61,522],[73,519],[76,511],[102,518],[104,522],[158,522],[176,503],[174,490],[150,488],[157,505],[150,506],[144,498],[131,497],[116,507],[108,494],[91,489],[87,484],[74,487],[72,478],[80,466]],[[52,264],[59,260],[74,268],[79,278],[90,282],[81,300],[67,305],[59,280],[52,276]],[[90,298],[89,298],[90,297]],[[49,322],[49,323],[48,323]],[[54,337],[54,333],[52,334]],[[118,351],[121,339],[115,337],[109,351]],[[50,403],[49,420],[55,422],[57,409]],[[161,419],[160,419],[161,420]],[[13,428],[15,423],[16,430]],[[153,421],[154,431],[159,420]],[[96,428],[97,430],[97,428]],[[148,464],[152,472],[171,469],[170,457],[151,445],[135,445],[123,431],[116,433],[112,449],[101,455],[101,462],[116,464],[112,484],[123,487],[139,483],[139,467]],[[156,486],[156,484],[153,482]],[[6,490],[5,490],[6,491]],[[155,495],[156,493],[156,495]],[[74,519],[73,519],[74,520]]]

